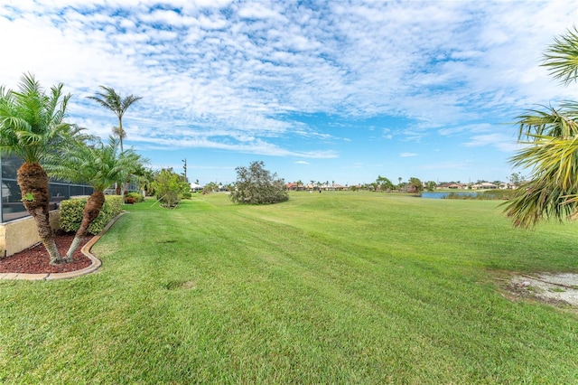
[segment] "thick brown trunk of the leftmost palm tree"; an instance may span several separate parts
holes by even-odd
[[[51,265],[58,265],[64,261],[56,248],[54,233],[50,222],[50,196],[48,194],[48,174],[37,163],[27,163],[18,169],[17,181],[22,192],[22,200],[26,211],[36,222],[38,235],[42,245],[51,257]]]

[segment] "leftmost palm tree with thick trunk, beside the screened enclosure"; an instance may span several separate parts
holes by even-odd
[[[49,221],[49,180],[42,164],[48,155],[58,156],[68,144],[87,137],[64,122],[70,94],[63,95],[62,88],[61,83],[52,86],[47,95],[32,74],[23,75],[18,91],[0,87],[0,151],[23,159],[17,172],[23,204],[53,265],[63,259]]]

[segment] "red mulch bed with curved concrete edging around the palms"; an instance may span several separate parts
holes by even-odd
[[[66,255],[74,239],[74,234],[56,234],[56,247],[61,253],[61,256]],[[85,237],[80,243],[79,249],[74,252],[72,262],[63,263],[58,266],[50,264],[51,258],[48,251],[44,248],[42,243],[39,243],[30,249],[25,249],[10,257],[0,258],[0,273],[68,273],[69,271],[76,271],[82,268],[88,268],[92,261],[90,258],[82,254],[80,249],[86,245],[92,236]]]

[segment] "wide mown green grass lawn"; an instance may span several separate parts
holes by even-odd
[[[96,274],[0,281],[0,382],[574,383],[576,313],[499,278],[578,271],[578,226],[516,230],[497,204],[126,206]]]

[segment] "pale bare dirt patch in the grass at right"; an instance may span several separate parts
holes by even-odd
[[[507,289],[515,297],[578,307],[578,274],[575,273],[518,275],[509,280]]]

